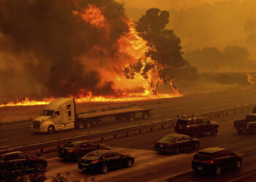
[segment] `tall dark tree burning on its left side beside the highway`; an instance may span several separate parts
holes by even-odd
[[[165,29],[168,22],[169,12],[156,8],[146,11],[146,15],[143,15],[136,23],[136,31],[147,42],[146,58],[150,61],[144,61],[143,65],[139,60],[138,63],[130,64],[124,69],[124,74],[131,79],[135,73],[140,73],[148,79],[150,71],[151,77],[154,76],[154,79],[151,79],[154,94],[157,93],[160,79],[176,90],[173,84],[175,79],[184,77],[191,79],[197,76],[196,69],[182,58],[181,40],[173,33],[173,30]]]

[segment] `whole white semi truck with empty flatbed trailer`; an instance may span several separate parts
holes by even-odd
[[[143,119],[150,118],[151,108],[119,108],[111,111],[76,114],[75,98],[57,98],[45,106],[41,116],[37,116],[32,124],[32,132],[47,132],[73,128],[83,129],[92,127],[105,117],[114,117],[117,122],[124,119],[133,121],[140,115]]]

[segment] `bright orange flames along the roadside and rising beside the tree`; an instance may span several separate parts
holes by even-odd
[[[89,4],[86,9],[78,11],[72,11],[72,14],[84,23],[90,23],[91,25],[104,31],[105,37],[108,38],[108,33],[110,31],[110,25],[108,25],[108,20],[102,14],[102,10],[98,7]],[[159,84],[159,71],[161,71],[162,66],[160,66],[156,60],[146,57],[146,52],[148,50],[147,42],[142,39],[138,32],[135,30],[135,23],[131,19],[125,20],[129,27],[129,31],[124,33],[118,39],[118,58],[120,58],[121,68],[124,69],[129,64],[137,63],[138,60],[141,61],[143,68],[147,64],[153,66],[150,71],[147,72],[147,76],[143,76],[143,73],[137,73],[132,79],[127,79],[124,75],[116,74],[116,78],[112,78],[114,82],[114,87],[116,90],[127,90],[131,87],[142,87],[142,92],[121,92],[116,96],[95,96],[91,92],[86,90],[80,90],[80,95],[69,95],[76,99],[77,103],[86,102],[110,102],[110,101],[131,101],[131,100],[149,100],[156,98],[174,98],[181,97],[182,94],[178,92],[178,89],[173,85],[173,81],[170,82],[170,86],[173,88],[173,94],[170,93],[157,93],[157,86]],[[98,47],[100,49],[100,47]],[[123,56],[122,56],[123,55]],[[125,55],[125,56],[124,56]],[[141,69],[143,71],[143,68]],[[249,79],[251,81],[251,79]],[[1,104],[0,107],[4,106],[34,106],[34,105],[46,105],[55,98],[44,98],[42,100],[32,100],[26,98],[25,100],[16,100],[7,104]]]

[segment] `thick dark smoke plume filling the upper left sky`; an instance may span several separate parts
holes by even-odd
[[[108,28],[83,20],[91,5],[101,10]],[[76,95],[81,89],[113,95],[113,82],[103,82],[92,68],[114,57],[116,41],[127,31],[125,18],[113,0],[0,0],[0,50],[14,55],[18,69],[32,70],[47,95]]]

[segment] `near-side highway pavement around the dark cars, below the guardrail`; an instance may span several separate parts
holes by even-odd
[[[231,181],[250,179],[255,176],[256,138],[255,135],[238,135],[233,128],[235,119],[244,118],[246,114],[237,114],[215,119],[219,122],[219,135],[203,135],[200,137],[200,149],[209,146],[221,146],[243,155],[241,170],[229,170],[220,176],[194,175],[191,170],[191,160],[196,151],[187,151],[181,154],[159,154],[154,151],[154,142],[162,136],[172,133],[173,129],[158,130],[128,138],[120,138],[104,143],[113,150],[132,154],[135,165],[132,168],[110,171],[107,174],[89,174],[96,181]],[[78,170],[76,162],[65,162],[56,153],[45,154],[48,157],[47,178],[56,173],[71,173],[69,180],[82,180],[84,173]],[[251,174],[251,175],[250,175]]]

